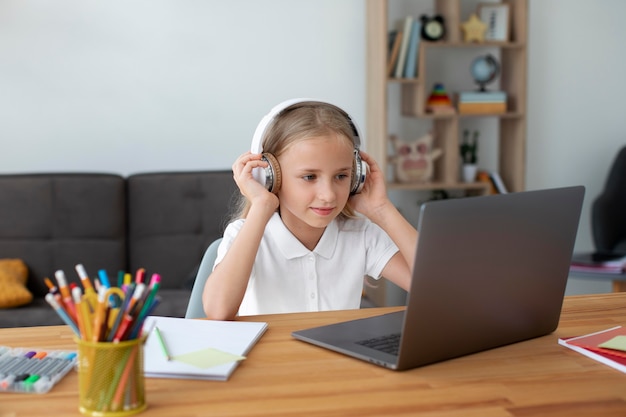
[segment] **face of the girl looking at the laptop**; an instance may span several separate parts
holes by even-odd
[[[308,247],[312,240],[317,243],[350,197],[352,142],[336,133],[306,138],[277,159],[282,173],[281,218]]]

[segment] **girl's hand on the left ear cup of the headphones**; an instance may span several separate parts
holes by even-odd
[[[233,178],[241,193],[250,201],[251,205],[260,203],[271,208],[272,212],[278,208],[278,197],[269,192],[252,176],[254,168],[266,168],[267,162],[261,160],[260,154],[246,152],[241,155],[232,166]]]

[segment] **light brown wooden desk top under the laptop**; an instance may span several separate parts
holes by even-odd
[[[397,308],[258,316],[267,333],[228,382],[147,379],[146,416],[625,416],[626,375],[557,344],[626,324],[626,294],[567,297],[551,335],[405,372],[291,331]],[[0,329],[0,344],[71,348],[64,326]],[[72,372],[47,394],[0,393],[0,417],[78,416]]]

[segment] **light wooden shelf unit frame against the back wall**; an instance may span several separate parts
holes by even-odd
[[[461,15],[461,3],[466,0],[434,0],[435,10],[446,22],[446,37],[442,41],[420,41],[418,77],[414,79],[390,78],[386,73],[389,15],[388,3],[395,0],[367,0],[367,105],[366,126],[367,149],[381,164],[383,172],[389,172],[389,134],[393,126],[388,125],[387,89],[390,84],[401,88],[401,114],[405,117],[432,121],[435,146],[443,155],[435,163],[435,175],[429,184],[395,184],[388,181],[390,188],[406,190],[459,189],[479,190],[486,193],[482,183],[465,184],[460,181],[459,121],[465,118],[494,117],[499,123],[498,171],[509,191],[524,190],[526,152],[526,38],[527,0],[509,0],[511,35],[509,42],[465,43],[460,24],[469,16]],[[406,0],[405,0],[406,1]],[[410,0],[422,2],[425,0]],[[473,2],[476,3],[476,2]],[[419,17],[419,16],[415,16]],[[432,86],[426,85],[426,70],[429,51],[446,49],[454,54],[458,50],[497,48],[500,51],[500,89],[507,92],[507,112],[504,114],[453,114],[433,115],[425,110],[426,99]],[[441,80],[446,82],[446,80]],[[473,86],[468,85],[468,89]],[[450,92],[449,92],[450,93]],[[482,190],[482,191],[481,191]]]

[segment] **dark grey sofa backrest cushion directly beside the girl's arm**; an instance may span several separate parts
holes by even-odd
[[[163,289],[189,288],[226,226],[238,192],[232,171],[135,174],[127,186],[130,269],[158,272]]]

